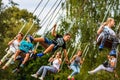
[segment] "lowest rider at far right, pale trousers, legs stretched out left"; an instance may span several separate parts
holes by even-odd
[[[94,74],[100,70],[105,70],[108,72],[115,72],[116,64],[117,64],[116,54],[110,54],[107,56],[107,61],[105,61],[103,64],[99,65],[94,70],[88,71],[88,73]],[[115,73],[115,76],[118,77],[118,75],[116,73]]]

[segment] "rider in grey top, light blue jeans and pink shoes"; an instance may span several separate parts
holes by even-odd
[[[83,63],[84,58],[81,58],[82,51],[78,50],[78,52],[72,57],[70,60],[70,69],[73,70],[73,72],[68,76],[68,80],[74,80],[74,76],[78,73],[80,73],[80,65]]]

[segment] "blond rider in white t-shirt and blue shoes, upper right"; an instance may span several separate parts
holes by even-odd
[[[106,22],[104,22],[100,28],[97,31],[97,34],[99,35],[97,38],[97,42],[101,40],[101,43],[99,45],[99,50],[102,50],[104,48],[104,44],[107,39],[112,40],[112,49],[110,53],[116,54],[116,48],[119,43],[119,40],[117,38],[116,33],[112,30],[112,28],[115,25],[115,21],[113,18],[108,18]]]

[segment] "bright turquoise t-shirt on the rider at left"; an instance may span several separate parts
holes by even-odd
[[[23,51],[24,53],[28,53],[30,50],[33,50],[33,44],[31,42],[22,40],[20,42],[19,49]]]

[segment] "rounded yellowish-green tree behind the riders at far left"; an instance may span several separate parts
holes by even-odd
[[[34,23],[33,28],[30,30],[30,32],[28,32],[28,34],[33,34],[37,31],[39,25],[36,17],[25,9],[21,10],[16,6],[4,7],[4,5],[1,3],[0,10],[0,45],[2,45],[0,46],[1,59],[3,55],[6,54],[4,50],[7,47],[7,43],[17,35],[25,22],[25,28],[22,30],[23,34],[26,34],[31,25]],[[19,74],[11,74],[11,69],[12,68],[8,68],[8,70],[0,72],[0,78],[18,80],[18,78],[22,77],[21,75],[19,76]],[[5,76],[5,74],[7,75],[7,77]]]

